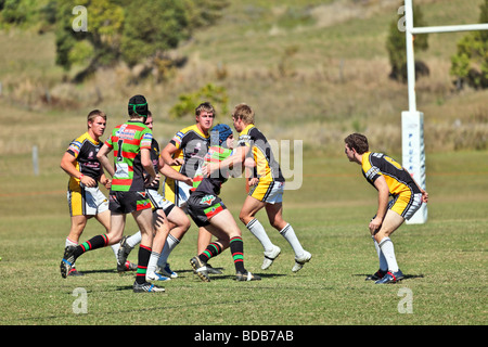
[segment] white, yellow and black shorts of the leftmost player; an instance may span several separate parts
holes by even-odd
[[[77,187],[66,197],[70,216],[95,216],[108,209],[108,200],[98,187]]]

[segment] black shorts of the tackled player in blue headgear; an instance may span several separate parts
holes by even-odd
[[[205,192],[193,192],[187,202],[188,214],[198,227],[208,226],[210,218],[226,208],[220,197]]]

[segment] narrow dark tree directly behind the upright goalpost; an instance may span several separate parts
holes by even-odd
[[[402,7],[400,7],[402,9]],[[413,26],[421,27],[427,26],[423,18],[420,7],[413,7]],[[402,15],[402,11],[399,11],[399,15]],[[400,26],[404,17],[398,17],[396,21],[391,21],[389,25],[389,35],[386,41],[386,49],[388,51],[389,63],[391,65],[391,72],[389,77],[402,82],[407,81],[407,42],[404,36],[404,28]],[[414,36],[414,49],[425,51],[428,49],[428,35],[415,35]],[[428,74],[428,67],[420,62],[415,61],[415,72],[420,74]]]

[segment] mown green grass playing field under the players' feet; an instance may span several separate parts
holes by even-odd
[[[260,245],[241,226],[246,267],[262,281],[233,281],[227,250],[211,261],[224,274],[200,282],[189,264],[196,247],[192,226],[170,257],[179,278],[165,284],[164,295],[133,294],[133,275],[116,273],[110,248],[79,258],[85,277],[62,279],[59,264],[69,228],[65,175],[52,168],[38,177],[2,177],[0,325],[486,324],[487,156],[427,156],[428,222],[394,234],[407,279],[383,286],[364,281],[377,268],[367,231],[376,194],[345,157],[306,156],[301,189],[285,194],[284,216],[313,254],[301,271],[291,272],[293,254],[277,232],[270,236],[283,253],[261,271]],[[223,190],[233,213],[245,196],[242,183],[235,179]],[[127,233],[132,233],[128,220]],[[90,221],[82,240],[102,231]],[[75,288],[87,292],[87,313],[74,312]],[[399,312],[404,288],[411,291],[412,313]]]

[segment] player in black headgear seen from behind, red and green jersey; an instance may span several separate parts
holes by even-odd
[[[150,153],[152,131],[144,125],[149,112],[145,98],[143,95],[130,98],[128,112],[130,119],[112,131],[112,136],[97,155],[113,178],[110,192],[111,231],[90,239],[66,255],[66,259],[63,259],[61,264],[61,274],[65,277],[70,265],[85,252],[119,242],[124,234],[126,215],[131,214],[142,233],[133,291],[137,293],[164,292],[164,288],[145,281],[154,231],[151,203],[145,187],[158,179]],[[107,157],[112,151],[114,151],[115,168]],[[145,181],[144,170],[149,174],[149,179]]]

